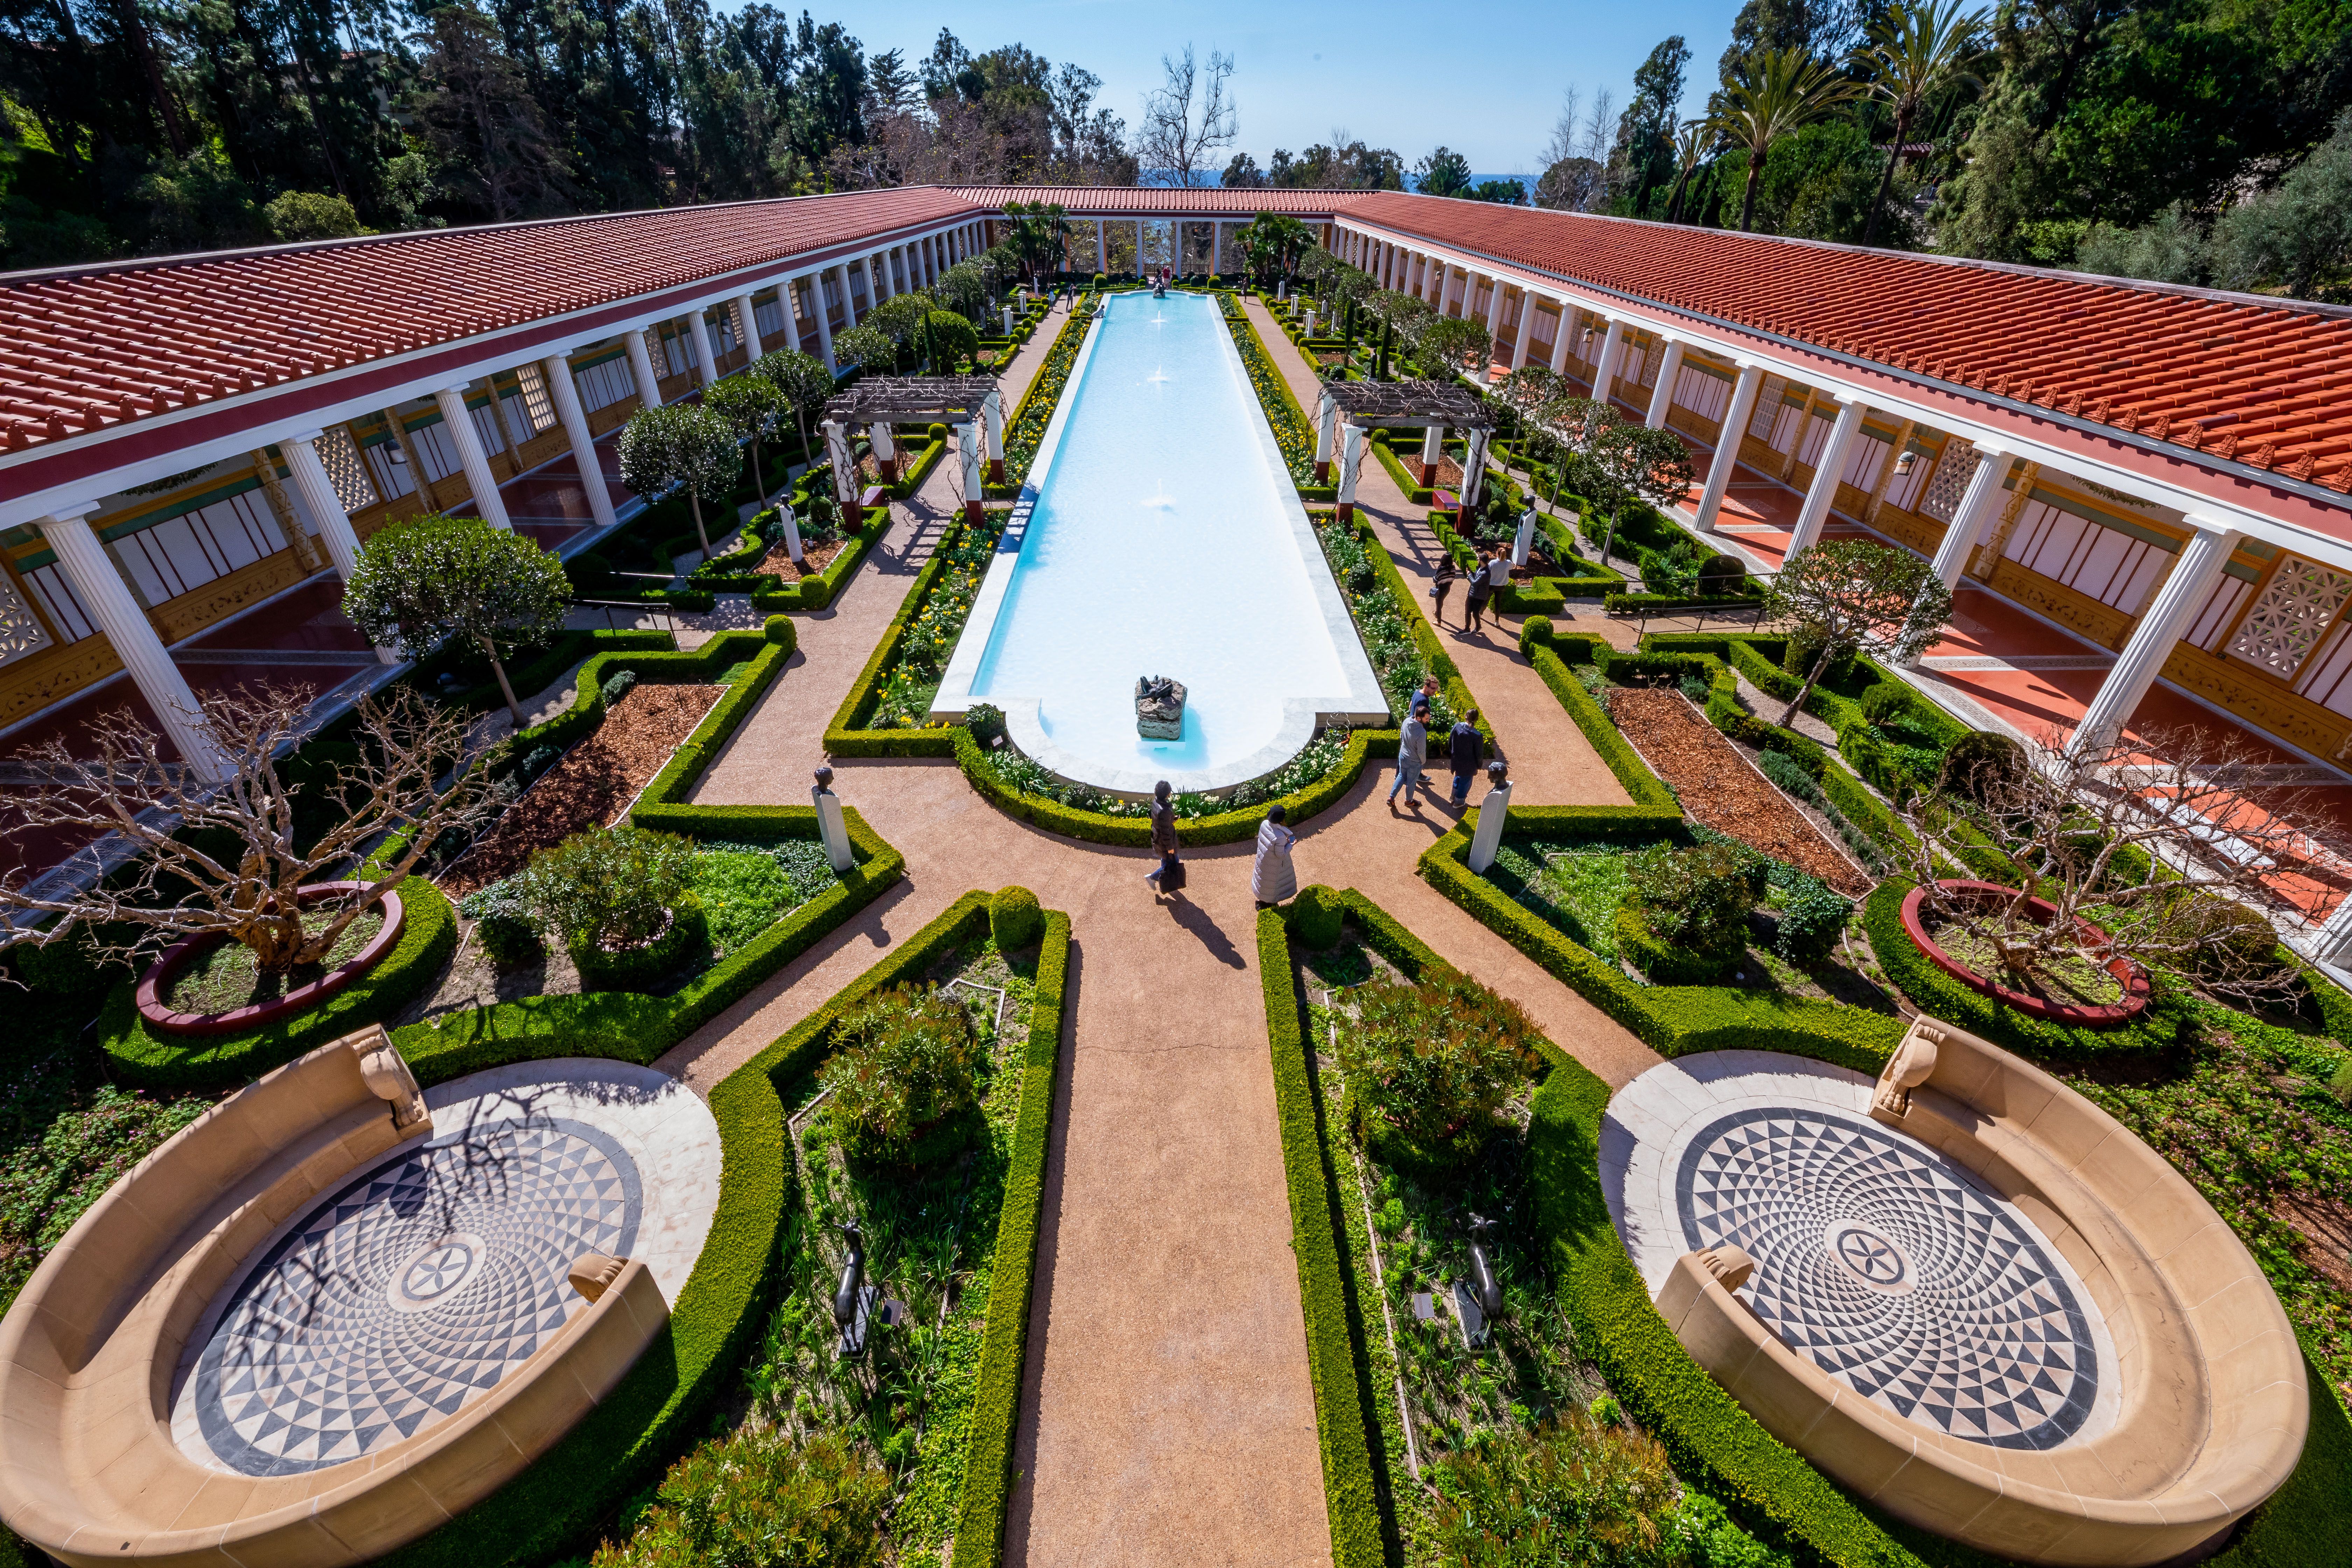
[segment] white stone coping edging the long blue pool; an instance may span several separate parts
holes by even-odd
[[[1120,294],[1145,294],[1145,289],[1120,289]],[[1103,299],[1108,308],[1108,301],[1115,296],[1105,294]],[[1223,306],[1214,296],[1209,296],[1209,303],[1223,313]],[[1004,597],[1011,590],[1014,567],[1021,559],[1021,543],[1028,538],[1028,524],[1037,510],[1037,496],[1044,489],[1047,475],[1054,473],[1054,458],[1061,451],[1065,421],[1075,407],[1070,388],[1084,383],[1087,367],[1094,360],[1094,348],[1103,339],[1103,334],[1096,331],[1098,324],[1098,320],[1087,324],[1087,341],[1080,346],[1077,360],[1070,362],[1070,376],[1063,381],[1063,400],[1054,407],[1054,418],[1047,423],[1044,437],[1037,442],[1037,456],[1030,461],[1030,477],[1021,484],[1021,498],[1014,501],[1014,512],[1004,524],[1004,534],[997,538],[995,559],[988,562],[988,576],[981,581],[981,590],[971,599],[971,614],[964,618],[964,630],[955,642],[955,651],[948,656],[938,693],[931,698],[931,717],[960,722],[976,701],[993,701],[1004,710],[1004,733],[1023,757],[1037,762],[1063,783],[1084,783],[1103,790],[1105,795],[1122,795],[1131,799],[1145,799],[1152,785],[1162,778],[1167,778],[1169,785],[1183,795],[1221,792],[1254,778],[1265,778],[1296,757],[1308,741],[1315,738],[1315,729],[1322,724],[1352,729],[1395,724],[1395,715],[1388,708],[1388,693],[1381,691],[1381,679],[1371,668],[1371,656],[1364,651],[1364,639],[1355,630],[1355,618],[1348,614],[1348,604],[1338,595],[1338,581],[1331,576],[1331,564],[1324,559],[1322,543],[1315,538],[1315,524],[1308,522],[1308,508],[1298,498],[1298,487],[1291,482],[1291,470],[1282,461],[1282,447],[1275,442],[1275,430],[1265,421],[1263,409],[1258,409],[1256,421],[1249,421],[1258,440],[1258,456],[1265,463],[1268,475],[1275,480],[1277,505],[1282,508],[1284,522],[1291,524],[1291,543],[1298,548],[1298,562],[1305,569],[1308,590],[1315,595],[1315,609],[1322,611],[1324,635],[1331,637],[1331,651],[1338,656],[1341,675],[1348,682],[1345,691],[1284,698],[1282,722],[1275,726],[1272,741],[1221,769],[1176,771],[1105,771],[1082,757],[1075,757],[1073,752],[1065,752],[1047,738],[1044,724],[1037,717],[1044,698],[971,696],[971,682],[978,677],[981,656],[995,637],[997,618],[1004,614]],[[1218,327],[1223,324],[1221,315]],[[1232,369],[1242,390],[1251,395],[1249,404],[1256,404],[1256,390],[1249,383],[1249,367],[1242,364],[1242,350],[1235,348],[1232,331],[1228,329],[1216,334],[1216,341],[1223,348],[1228,369]],[[1096,776],[1089,778],[1077,769],[1091,769]]]

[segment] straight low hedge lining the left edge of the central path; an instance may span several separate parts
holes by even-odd
[[[1070,985],[1070,917],[1044,914],[1037,950],[1037,999],[1030,1004],[1028,1056],[1021,1063],[1021,1117],[1014,1121],[997,1262],[988,1281],[981,1331],[981,1378],[971,1396],[964,1495],[955,1509],[955,1563],[995,1568],[1004,1547],[1004,1505],[1014,1486],[1014,1432],[1021,1422],[1021,1375],[1028,1366],[1030,1279],[1044,1220],[1044,1161],[1054,1138],[1054,1084],[1061,1065],[1061,1016]]]

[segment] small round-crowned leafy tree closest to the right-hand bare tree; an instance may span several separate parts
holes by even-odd
[[[1910,550],[1825,538],[1783,562],[1764,595],[1764,614],[1820,649],[1780,712],[1785,729],[1830,665],[1853,654],[1903,663],[1926,651],[1952,616],[1952,590]]]

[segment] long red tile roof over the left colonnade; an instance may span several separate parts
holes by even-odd
[[[978,216],[948,190],[858,190],[0,275],[0,447],[957,214]]]

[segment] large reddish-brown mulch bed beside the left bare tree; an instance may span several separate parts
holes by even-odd
[[[630,686],[604,710],[604,724],[524,790],[499,825],[449,867],[440,886],[452,898],[520,872],[532,851],[555,849],[581,827],[612,823],[637,790],[694,733],[724,686]]]

